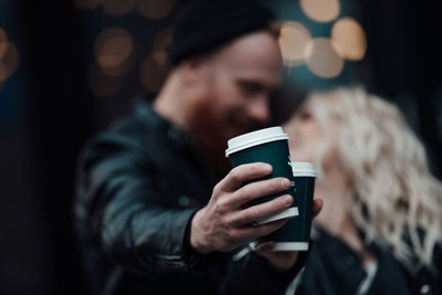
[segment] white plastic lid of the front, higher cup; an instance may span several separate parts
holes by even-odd
[[[270,128],[264,128],[261,130],[256,130],[253,133],[248,133],[243,134],[236,137],[231,138],[228,141],[228,149],[225,150],[225,157],[229,157],[229,155],[250,148],[254,147],[257,145],[275,141],[275,140],[282,140],[286,139],[288,140],[290,137],[287,134],[283,131],[282,127],[270,127]]]

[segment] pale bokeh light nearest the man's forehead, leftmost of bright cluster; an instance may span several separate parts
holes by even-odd
[[[305,60],[305,46],[311,39],[309,31],[299,22],[283,22],[278,42],[284,65],[296,66],[303,64]]]

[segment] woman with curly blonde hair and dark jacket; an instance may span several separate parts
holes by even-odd
[[[283,128],[324,199],[296,294],[442,294],[442,185],[398,108],[337,88],[309,95]]]

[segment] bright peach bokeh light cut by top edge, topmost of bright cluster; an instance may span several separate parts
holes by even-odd
[[[299,0],[303,12],[314,21],[329,22],[340,12],[339,0]]]

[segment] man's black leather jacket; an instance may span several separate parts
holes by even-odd
[[[199,255],[189,223],[218,182],[189,135],[139,101],[87,144],[74,223],[93,294],[215,294],[230,254]],[[272,274],[261,257],[251,260]],[[283,288],[276,278],[269,286]]]

